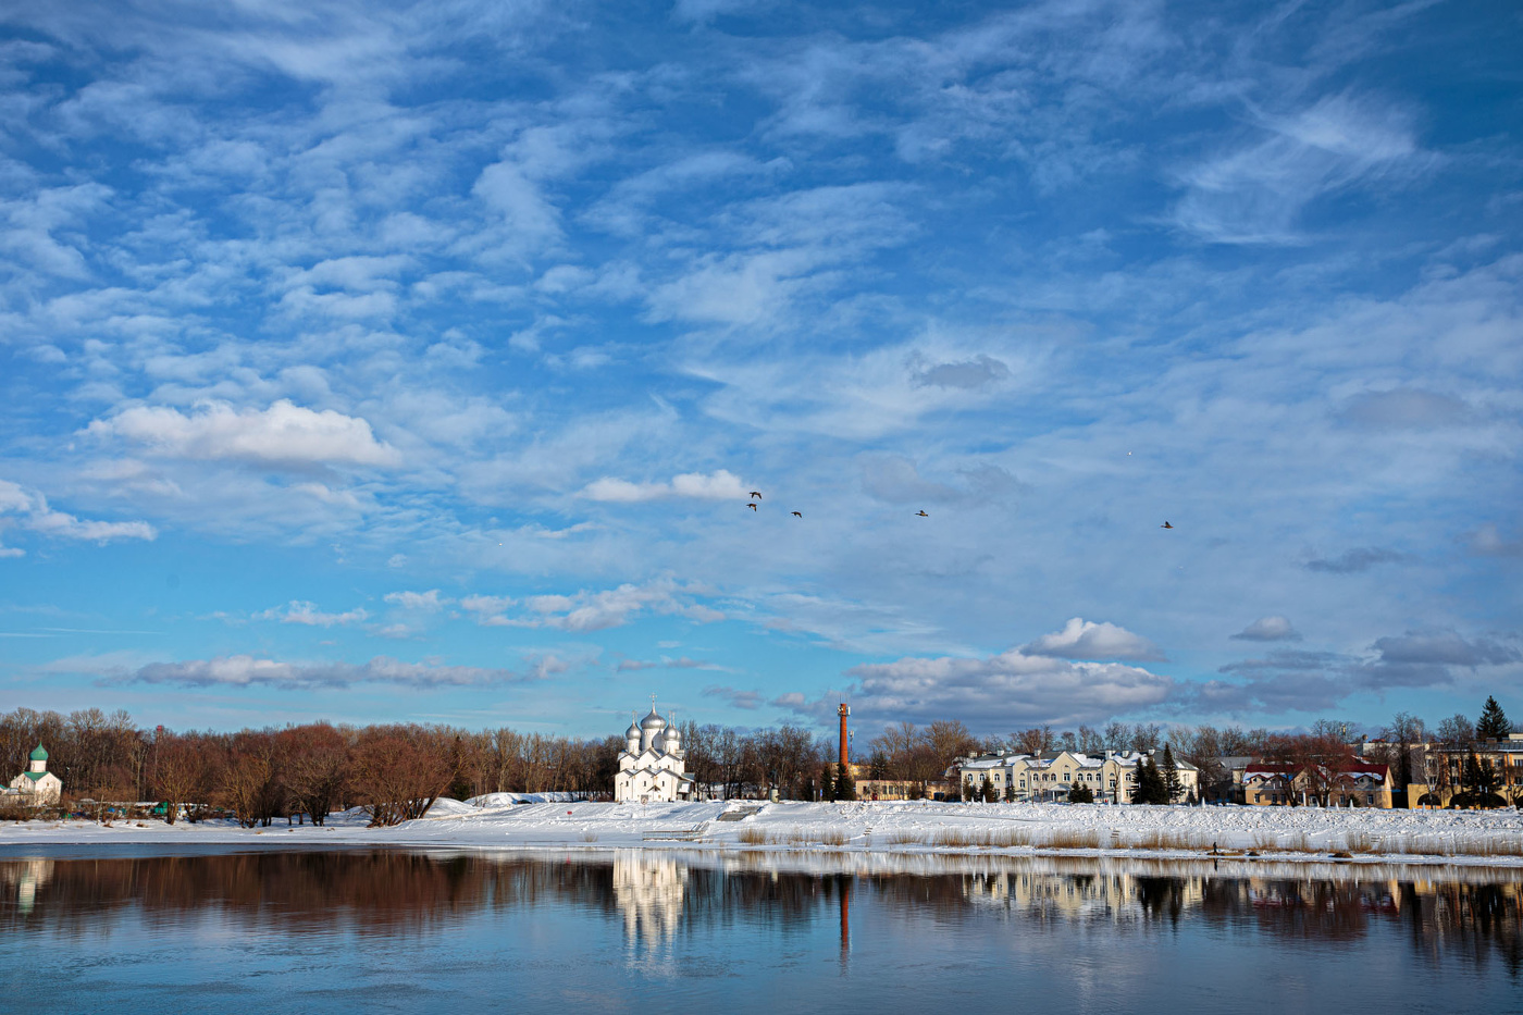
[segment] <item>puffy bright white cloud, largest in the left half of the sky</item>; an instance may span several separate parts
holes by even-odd
[[[201,402],[189,416],[163,405],[139,405],[91,422],[88,433],[123,437],[152,453],[183,459],[288,465],[401,463],[396,448],[378,442],[364,419],[330,408],[314,411],[288,399],[263,410]]]

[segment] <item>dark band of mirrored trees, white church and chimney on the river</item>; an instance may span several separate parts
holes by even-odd
[[[903,951],[892,960],[902,965],[924,942],[949,940],[956,942],[947,946],[952,957],[937,962],[1008,963],[1036,954],[1048,937],[1060,943],[1075,933],[1156,946],[1180,936],[1196,942],[1191,948],[1244,942],[1256,954],[1296,956],[1298,969],[1339,962],[1349,949],[1404,953],[1401,966],[1444,975],[1491,968],[1511,978],[1523,965],[1523,872],[1473,867],[355,850],[26,857],[0,860],[0,936],[50,936],[49,945],[76,954],[113,934],[133,939],[140,927],[164,934],[227,928],[248,940],[410,939],[428,948],[483,921],[513,917],[515,927],[538,928],[544,914],[571,911],[591,927],[611,925],[632,949],[626,960],[647,978],[694,969],[733,975],[736,959],[717,953],[746,940],[760,960],[774,953],[777,962],[825,959],[842,978],[857,977],[859,989],[860,977],[882,978],[892,949]],[[457,948],[452,940],[439,948]]]

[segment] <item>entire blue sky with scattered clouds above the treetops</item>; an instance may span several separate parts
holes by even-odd
[[[0,707],[1506,706],[1520,18],[12,5]]]

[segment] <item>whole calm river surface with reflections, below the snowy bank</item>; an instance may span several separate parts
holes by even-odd
[[[17,1012],[1523,1010],[1506,870],[76,847],[0,893]]]

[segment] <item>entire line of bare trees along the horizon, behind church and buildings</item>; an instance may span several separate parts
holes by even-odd
[[[679,724],[687,771],[705,794],[763,796],[777,789],[795,800],[851,799],[850,771],[835,764],[836,742],[797,725],[742,730],[725,725]],[[1351,730],[1359,724],[1320,719],[1305,733],[1264,728],[1110,722],[1104,728],[1080,725],[1019,730],[1008,738],[975,738],[958,721],[918,727],[899,722],[868,742],[867,774],[928,783],[944,779],[963,756],[978,753],[1083,753],[1162,750],[1170,764],[1186,760],[1200,770],[1203,789],[1220,783],[1221,757],[1249,756],[1305,768],[1308,794],[1327,797],[1337,777],[1330,757],[1346,757]],[[1406,712],[1381,730],[1383,744],[1371,760],[1392,767],[1398,791],[1409,783],[1436,779],[1477,794],[1506,783],[1483,759],[1426,767],[1435,744],[1464,748],[1512,732],[1502,707],[1488,698],[1479,721],[1450,716],[1429,727]],[[245,824],[268,824],[277,817],[309,815],[321,823],[330,811],[366,808],[378,824],[416,817],[442,796],[469,799],[486,792],[576,792],[608,796],[614,789],[618,736],[577,739],[512,728],[463,730],[449,725],[381,724],[334,725],[312,722],[285,728],[236,733],[142,728],[129,713],[82,709],[69,715],[15,709],[0,715],[3,773],[26,768],[37,744],[49,750],[49,768],[78,800],[163,802],[166,817],[186,811],[192,820],[221,809]],[[1164,777],[1168,782],[1168,777]],[[1151,776],[1145,786],[1150,796]],[[1173,794],[1170,794],[1173,796]],[[178,806],[186,805],[186,806]],[[305,818],[303,818],[305,820]]]

